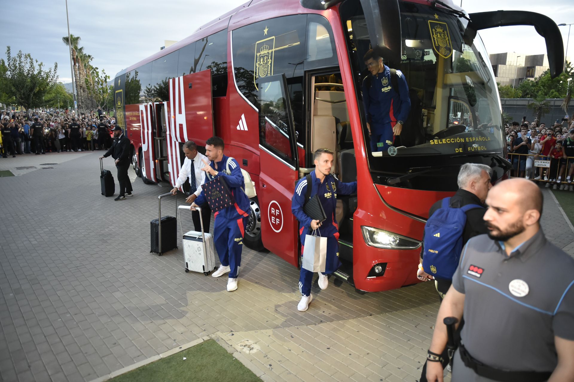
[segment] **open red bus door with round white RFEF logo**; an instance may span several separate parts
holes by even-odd
[[[257,80],[259,99],[259,202],[267,250],[298,266],[297,220],[291,198],[298,180],[297,143],[285,75]]]

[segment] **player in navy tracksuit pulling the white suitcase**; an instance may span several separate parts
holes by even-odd
[[[231,174],[226,173],[227,155],[223,155],[223,139],[212,137],[205,142],[205,156],[210,163],[205,161],[202,169],[206,173],[206,182],[216,177],[225,177],[227,185],[235,198],[235,205],[226,207],[215,213],[214,244],[221,265],[212,276],[219,277],[229,272],[227,291],[237,289],[237,276],[241,267],[241,251],[243,249],[243,235],[247,216],[249,216],[249,198],[243,192],[245,181],[241,174],[239,163],[231,158],[229,169]],[[243,189],[243,190],[242,190]],[[202,205],[206,201],[203,190],[192,203],[191,207]]]

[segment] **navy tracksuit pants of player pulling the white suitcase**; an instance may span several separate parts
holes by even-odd
[[[219,261],[224,267],[230,267],[229,278],[235,279],[241,267],[241,251],[243,250],[243,235],[247,217],[226,219],[215,214],[214,245]]]

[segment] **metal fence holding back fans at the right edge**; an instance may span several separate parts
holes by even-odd
[[[574,157],[556,159],[542,154],[509,153],[508,160],[513,165],[510,175],[513,178],[543,182],[546,188],[554,190],[574,191]]]

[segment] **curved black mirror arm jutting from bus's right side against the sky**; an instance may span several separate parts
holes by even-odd
[[[495,26],[532,25],[546,40],[550,77],[556,78],[563,71],[564,44],[556,23],[540,13],[529,11],[490,11],[471,13],[471,29],[482,30]]]

